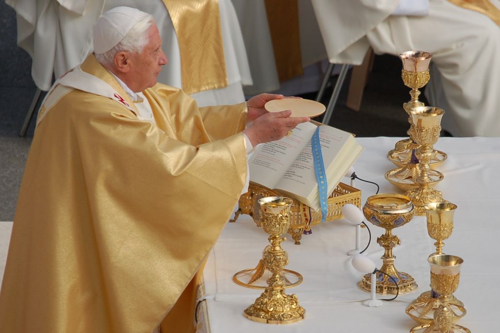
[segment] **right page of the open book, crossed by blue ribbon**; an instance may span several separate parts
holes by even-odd
[[[346,143],[349,139],[354,140],[350,133],[329,126],[319,127],[319,142],[325,170],[333,163],[335,157],[338,156],[340,162],[343,160],[343,157],[348,153],[348,149],[346,149],[346,151],[342,149],[344,146],[348,146]],[[350,164],[346,166],[346,170],[349,167]],[[340,180],[340,178],[338,178],[338,180]],[[328,182],[328,193],[335,188],[337,183],[338,181],[334,184]],[[317,182],[310,140],[302,151],[298,153],[297,158],[290,164],[282,178],[276,183],[275,188],[294,193],[298,197],[305,199],[304,203],[310,205],[314,209],[319,207]],[[317,201],[317,204],[309,200]]]

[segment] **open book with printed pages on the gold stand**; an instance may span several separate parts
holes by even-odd
[[[291,135],[255,148],[248,160],[250,181],[319,209],[319,192],[314,173],[311,136],[317,126],[298,124]],[[354,136],[328,125],[319,126],[319,141],[330,194],[363,151]]]

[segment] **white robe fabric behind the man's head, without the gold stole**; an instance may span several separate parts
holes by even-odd
[[[6,0],[17,13],[17,43],[33,59],[31,76],[48,90],[52,73],[59,77],[92,51],[92,26],[102,12],[116,6],[135,7],[153,15],[168,64],[158,82],[181,87],[180,54],[173,24],[161,0]],[[251,84],[246,51],[230,0],[219,0],[220,24],[228,85],[196,92],[199,106],[244,101],[243,84]]]

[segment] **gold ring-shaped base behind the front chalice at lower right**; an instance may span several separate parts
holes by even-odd
[[[463,303],[455,296],[449,298],[448,306],[453,313],[453,322],[463,317],[467,311]],[[406,314],[420,324],[430,323],[434,319],[434,310],[439,307],[437,298],[430,296],[430,290],[422,292],[406,307]]]

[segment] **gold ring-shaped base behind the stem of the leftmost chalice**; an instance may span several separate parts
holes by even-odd
[[[265,269],[262,261],[259,261],[257,267],[247,268],[238,271],[232,276],[232,280],[241,286],[251,289],[265,289],[267,287],[266,280],[270,276],[270,272]],[[267,274],[266,274],[267,272]],[[280,272],[281,278],[284,280],[283,288],[291,288],[302,283],[303,277],[299,272],[291,269],[283,269]]]

